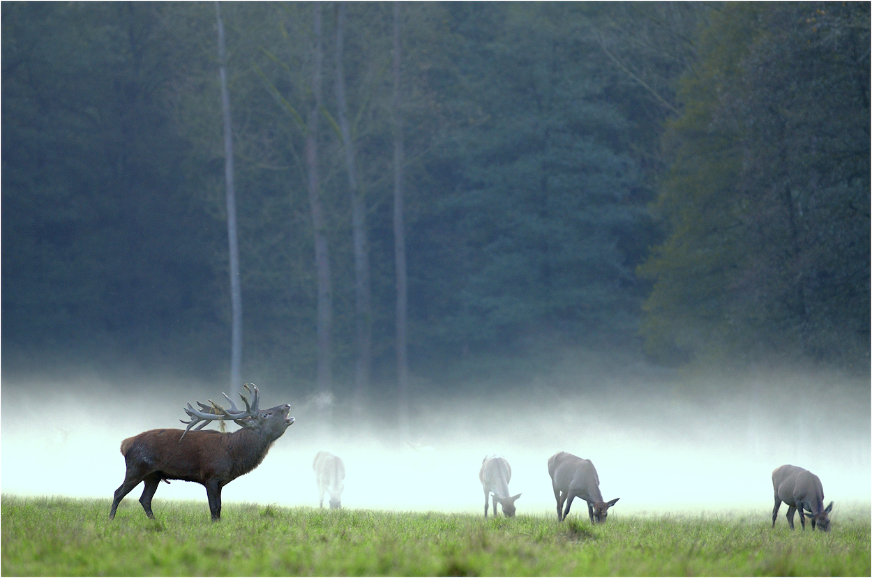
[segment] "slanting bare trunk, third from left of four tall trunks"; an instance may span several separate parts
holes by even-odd
[[[348,186],[351,192],[351,238],[354,245],[355,317],[357,323],[358,358],[354,368],[354,409],[362,411],[370,384],[372,358],[372,309],[370,296],[370,256],[366,243],[366,207],[358,191],[354,143],[348,125],[348,103],[345,99],[345,78],[342,65],[345,3],[338,3],[336,24],[336,97],[339,108],[339,130],[348,167]]]

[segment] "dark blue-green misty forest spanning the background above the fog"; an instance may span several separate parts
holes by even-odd
[[[321,275],[331,388],[361,328],[391,387],[398,169],[412,375],[869,371],[869,3],[402,3],[396,70],[393,8],[221,4],[243,377],[314,391]],[[2,10],[3,370],[226,378],[215,4]]]

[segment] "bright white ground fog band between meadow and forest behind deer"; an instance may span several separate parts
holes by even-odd
[[[124,478],[122,439],[146,429],[183,427],[182,407],[216,401],[226,386],[148,379],[4,379],[0,485],[4,494],[112,497]],[[318,450],[340,455],[344,507],[481,512],[482,458],[512,466],[519,513],[553,513],[548,456],[591,459],[610,513],[771,511],[773,469],[817,473],[840,508],[870,500],[869,384],[843,377],[651,377],[623,371],[591,377],[565,371],[512,388],[439,394],[418,384],[407,435],[390,403],[355,413],[341,400],[325,410],[287,384],[258,384],[261,407],[290,403],[296,423],[262,465],[224,488],[225,503],[317,506],[311,464]],[[227,391],[238,399],[236,392]],[[329,415],[332,425],[327,425]],[[37,417],[38,416],[38,417]],[[228,429],[236,429],[229,425]],[[122,505],[136,503],[141,486]],[[202,486],[161,484],[153,503],[200,500]],[[576,515],[586,507],[576,502]]]

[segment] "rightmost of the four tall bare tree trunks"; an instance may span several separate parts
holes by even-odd
[[[405,225],[403,223],[403,126],[399,113],[399,2],[393,3],[393,247],[397,269],[397,386],[399,432],[409,434],[409,365],[406,336]]]

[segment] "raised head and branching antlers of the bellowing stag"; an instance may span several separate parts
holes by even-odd
[[[236,407],[233,400],[228,398],[226,393],[221,393],[221,395],[228,400],[230,404],[229,409],[224,409],[211,399],[209,400],[209,405],[201,404],[198,401],[197,405],[200,405],[201,408],[199,410],[194,409],[192,405],[188,404],[187,408],[185,408],[185,413],[187,413],[190,419],[188,421],[180,420],[182,424],[187,424],[185,433],[200,422],[202,423],[194,427],[194,430],[199,430],[215,420],[232,419],[236,425],[261,432],[269,441],[281,438],[284,431],[288,429],[288,426],[294,423],[294,418],[288,415],[290,413],[290,405],[276,405],[276,407],[270,407],[269,410],[261,410],[259,408],[261,394],[257,390],[257,386],[255,384],[245,384],[242,387],[252,395],[251,403],[249,403],[249,398],[246,398],[242,393],[239,394],[239,397],[242,398],[242,403],[245,405],[244,410]],[[181,434],[181,439],[185,438],[185,433]],[[181,439],[179,439],[180,442]]]

